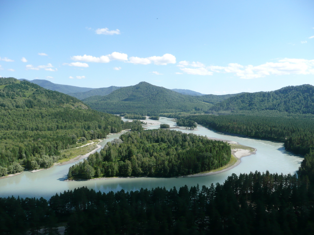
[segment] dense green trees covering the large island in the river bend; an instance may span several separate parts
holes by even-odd
[[[230,161],[230,145],[169,129],[125,133],[87,161],[70,167],[68,178],[177,176],[210,171]]]

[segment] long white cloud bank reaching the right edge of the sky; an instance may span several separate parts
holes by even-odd
[[[267,62],[263,65],[239,65],[230,63],[228,66],[208,66],[214,72],[235,73],[243,79],[260,78],[268,75],[314,74],[314,60],[289,59],[278,60],[278,63]]]

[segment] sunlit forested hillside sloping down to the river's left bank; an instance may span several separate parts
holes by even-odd
[[[132,125],[69,95],[0,78],[0,176],[20,171],[19,165],[50,167],[62,158],[61,150],[78,146],[79,137],[105,138]]]

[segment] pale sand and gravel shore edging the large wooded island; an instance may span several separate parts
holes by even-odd
[[[257,149],[249,147],[249,146],[245,146],[245,145],[241,145],[236,141],[231,141],[231,140],[225,140],[225,139],[219,139],[219,138],[214,138],[214,137],[207,137],[208,139],[212,139],[212,140],[219,140],[219,141],[224,141],[224,142],[228,142],[229,144],[234,144],[234,145],[239,145],[239,146],[244,146],[244,147],[248,147],[250,149],[252,149],[253,151],[251,151],[250,149],[240,149],[240,148],[236,148],[236,149],[231,149],[231,154],[233,157],[236,158],[236,162],[233,165],[227,166],[226,168],[223,168],[221,170],[212,170],[209,172],[204,172],[204,173],[198,173],[198,174],[193,174],[193,175],[183,175],[183,176],[173,176],[173,177],[152,177],[152,178],[191,178],[191,177],[203,177],[203,176],[208,176],[208,175],[215,175],[215,174],[219,174],[222,172],[225,172],[227,170],[231,170],[232,168],[236,167],[237,165],[239,165],[241,163],[241,158],[242,157],[246,157],[246,156],[250,156],[252,154],[256,154]],[[231,159],[230,159],[231,161]],[[147,178],[149,176],[129,176],[129,177],[102,177],[102,178],[95,178],[95,179],[89,179],[89,180],[114,180],[114,179],[134,179],[134,178]],[[89,181],[89,180],[64,180],[67,182],[71,182],[71,181]]]

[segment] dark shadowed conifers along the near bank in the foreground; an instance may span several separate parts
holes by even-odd
[[[0,198],[0,234],[313,234],[314,154],[296,175],[254,172],[223,184],[108,193],[86,187],[48,201]]]

